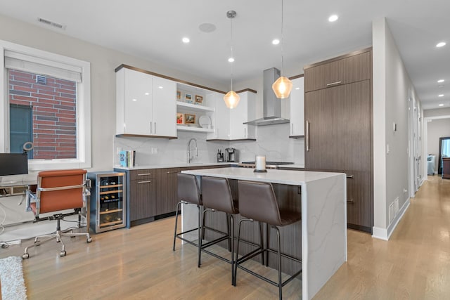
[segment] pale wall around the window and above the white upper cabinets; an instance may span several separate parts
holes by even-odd
[[[91,63],[92,169],[110,170],[115,136],[115,68],[122,63],[169,77],[226,91],[226,85],[174,70],[155,61],[141,60],[126,53],[65,36],[53,30],[0,15],[0,39],[70,56]]]

